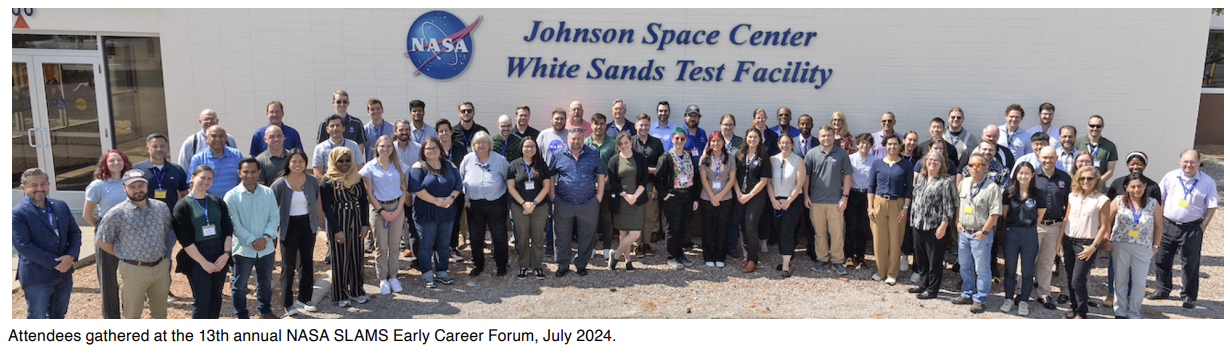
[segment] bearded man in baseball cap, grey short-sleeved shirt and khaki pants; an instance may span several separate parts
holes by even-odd
[[[151,318],[166,318],[166,295],[171,290],[171,262],[165,258],[171,210],[162,202],[146,198],[145,172],[129,170],[123,177],[128,200],[107,211],[98,221],[95,242],[119,258],[119,303],[124,318],[140,318],[149,303]]]

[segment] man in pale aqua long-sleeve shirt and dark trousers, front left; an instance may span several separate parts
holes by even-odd
[[[239,163],[240,184],[226,192],[223,202],[234,224],[231,258],[231,303],[235,317],[248,318],[247,279],[256,268],[256,301],[261,318],[273,317],[273,252],[278,237],[278,198],[269,187],[257,183],[261,166],[252,157]]]

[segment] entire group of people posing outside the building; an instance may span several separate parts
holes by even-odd
[[[1129,174],[1105,187],[1119,155],[1101,136],[1103,119],[1091,117],[1089,134],[1077,139],[1074,127],[1052,125],[1050,103],[1039,107],[1033,129],[1020,128],[1025,109],[1012,104],[1006,124],[988,125],[980,136],[952,108],[947,120],[931,120],[926,141],[915,131],[898,134],[891,112],[881,117],[881,131],[855,136],[841,112],[813,135],[808,114],[795,127],[782,107],[769,127],[768,112],[758,108],[739,135],[733,114],[706,133],[695,104],[675,125],[665,101],[652,120],[646,113],[626,118],[616,100],[610,120],[594,113],[587,122],[582,103],[572,102],[538,130],[529,127],[530,108],[519,106],[514,117],[498,118],[498,131],[488,131],[474,120],[470,102],[458,106],[459,123],[440,119],[433,129],[426,128],[422,101],[410,102],[408,120],[390,123],[371,98],[367,124],[347,112],[344,91],[331,103],[336,112],[311,149],[273,101],[266,106],[269,124],[253,134],[247,156],[210,109],[200,113],[200,131],[184,140],[178,163],[166,160],[162,134],[146,138],[146,161],[103,154],[84,214],[96,229],[103,317],[139,318],[148,307],[150,317],[165,318],[172,269],[188,279],[193,318],[219,317],[228,272],[235,316],[250,316],[247,281],[255,274],[257,315],[273,317],[274,248],[282,253],[285,313],[316,311],[317,230],[328,243],[331,299],[347,307],[369,300],[364,240],[375,252],[380,291],[390,294],[402,291],[403,257],[416,262],[426,288],[454,284],[449,263],[461,259],[462,238],[472,254],[470,276],[488,265],[506,276],[512,260],[518,279],[545,279],[549,258],[555,276],[585,276],[595,248],[610,270],[633,270],[633,259],[653,256],[651,243],[659,240],[665,264],[684,269],[694,265],[685,254],[694,227],[706,267],[740,260],[742,272],[753,273],[776,245],[781,278],[795,272],[800,232],[811,269],[843,276],[870,267],[871,240],[871,280],[894,285],[911,272],[909,292],[918,299],[938,296],[943,258],[956,247],[962,285],[952,302],[974,313],[985,311],[993,279],[1004,280],[1004,312],[1028,315],[1031,295],[1055,308],[1050,278],[1059,264],[1068,294],[1058,302],[1071,303],[1064,316],[1085,317],[1091,264],[1111,251],[1108,301],[1117,317],[1139,317],[1150,262],[1157,284],[1148,297],[1168,299],[1176,254],[1183,259],[1183,306],[1193,306],[1203,231],[1218,206],[1215,183],[1199,171],[1194,150],[1160,183],[1143,176],[1148,156],[1132,152]],[[14,246],[32,318],[64,316],[81,246],[66,205],[47,198],[48,176],[27,170],[26,198],[14,206]],[[494,264],[485,254],[487,233]],[[176,242],[181,251],[172,257]]]

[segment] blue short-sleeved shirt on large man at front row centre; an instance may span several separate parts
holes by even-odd
[[[598,157],[598,150],[581,146],[581,156],[572,157],[568,147],[551,155],[547,174],[555,177],[555,200],[568,206],[584,206],[598,200],[598,176],[606,174],[606,167]]]

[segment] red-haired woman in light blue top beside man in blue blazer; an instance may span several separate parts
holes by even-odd
[[[98,158],[93,181],[85,187],[85,210],[81,211],[81,217],[85,217],[90,226],[95,226],[95,230],[98,220],[111,208],[127,199],[124,184],[119,178],[132,168],[128,156],[119,150],[107,151]],[[116,278],[119,259],[95,246],[95,260],[97,263],[95,268],[98,270],[98,292],[102,295],[100,300],[102,318],[119,318],[119,283]]]

